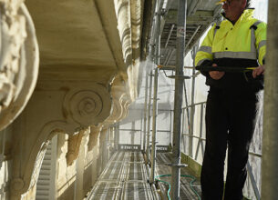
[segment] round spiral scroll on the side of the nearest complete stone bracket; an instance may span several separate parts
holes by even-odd
[[[112,101],[104,85],[92,84],[76,88],[67,93],[64,100],[64,113],[67,120],[88,127],[98,125],[108,118]]]

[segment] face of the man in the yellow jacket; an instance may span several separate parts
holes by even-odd
[[[246,0],[227,0],[223,3],[222,8],[225,16],[235,23],[242,15],[245,5]]]

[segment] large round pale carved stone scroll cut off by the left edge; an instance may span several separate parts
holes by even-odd
[[[38,74],[35,27],[22,1],[0,1],[0,130],[32,95]]]

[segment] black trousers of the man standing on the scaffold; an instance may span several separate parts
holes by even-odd
[[[256,104],[255,93],[211,88],[205,118],[206,147],[201,169],[202,199],[222,199],[224,160],[228,145],[224,199],[242,200]]]

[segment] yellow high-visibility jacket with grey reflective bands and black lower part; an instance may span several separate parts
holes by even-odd
[[[220,25],[213,25],[203,40],[195,57],[195,65],[250,67],[263,65],[266,48],[267,25],[252,17],[253,9],[246,9],[238,21],[225,19]],[[220,80],[214,80],[206,72],[207,85],[241,89],[260,90],[263,83],[252,80],[251,75],[225,73]]]

